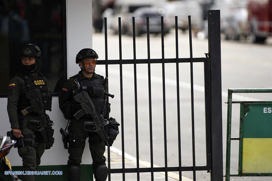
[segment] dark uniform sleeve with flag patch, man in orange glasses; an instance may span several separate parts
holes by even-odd
[[[73,95],[73,90],[72,90],[72,86],[71,86],[72,81],[73,81],[73,79],[70,78],[64,82],[63,88],[62,88],[60,95],[59,95],[59,107],[62,112],[63,112],[63,108],[65,107],[64,106],[65,103],[68,101],[71,101],[71,99],[72,99],[72,95]]]

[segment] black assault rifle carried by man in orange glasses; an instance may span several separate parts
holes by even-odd
[[[105,131],[105,125],[109,122],[107,119],[104,119],[102,115],[98,116],[96,114],[96,109],[92,103],[87,92],[83,91],[74,96],[76,102],[80,103],[81,110],[74,114],[76,119],[79,119],[81,116],[85,114],[89,114],[92,116],[92,122],[84,122],[84,130],[87,132],[96,132],[102,141],[105,141],[105,144],[108,146],[108,135]]]

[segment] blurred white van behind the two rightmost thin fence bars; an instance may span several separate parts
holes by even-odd
[[[178,28],[189,29],[188,16],[191,16],[192,30],[198,32],[202,26],[202,8],[197,1],[173,1],[164,5],[165,18],[175,27],[175,16],[178,16]]]

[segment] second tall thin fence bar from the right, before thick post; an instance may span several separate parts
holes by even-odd
[[[178,27],[177,16],[175,16],[176,30],[176,99],[177,99],[177,121],[178,121],[178,144],[179,144],[179,177],[181,181],[181,139],[180,139],[180,73],[179,73],[179,44],[178,44]]]

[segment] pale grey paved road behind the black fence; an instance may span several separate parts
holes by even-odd
[[[99,59],[105,59],[104,34],[93,34],[93,49]],[[160,36],[151,36],[151,59],[161,58]],[[118,36],[108,35],[108,59],[119,59]],[[226,114],[228,88],[272,88],[272,41],[267,44],[250,44],[222,40],[222,120],[223,120],[223,163],[225,175]],[[164,39],[165,58],[175,58],[175,34],[171,31]],[[193,57],[205,57],[208,40],[193,37]],[[136,57],[147,58],[146,36],[136,38]],[[179,32],[179,57],[189,58],[189,36]],[[132,37],[122,36],[122,59],[133,59]],[[135,102],[133,65],[123,65],[123,103],[125,152],[136,157]],[[180,78],[180,120],[182,166],[192,166],[192,128],[191,91],[189,63],[179,64]],[[96,72],[105,75],[105,66],[98,65]],[[153,157],[154,164],[164,167],[164,120],[162,93],[162,66],[151,65]],[[194,76],[194,116],[196,165],[206,165],[205,110],[204,110],[204,71],[203,63],[193,64]],[[109,65],[109,92],[115,94],[111,99],[111,116],[121,123],[119,65]],[[167,119],[167,164],[178,166],[176,65],[165,64],[166,78],[166,119]],[[139,157],[150,162],[149,105],[147,65],[137,65]],[[239,94],[236,100],[272,100],[272,94]],[[120,127],[121,132],[121,127]],[[232,109],[232,137],[239,134],[239,105]],[[114,143],[121,150],[121,134]],[[125,164],[126,168],[131,163]],[[134,166],[135,167],[135,166]],[[115,168],[115,165],[112,165]],[[116,167],[117,168],[117,167]],[[238,141],[232,142],[231,173],[238,171]],[[183,176],[193,178],[192,172],[182,172]],[[136,176],[136,174],[135,174]],[[135,177],[137,178],[137,177]],[[196,172],[197,180],[210,180],[206,171]],[[233,180],[271,180],[271,177],[233,177]],[[120,178],[121,180],[121,178]],[[135,179],[136,180],[136,179]]]

